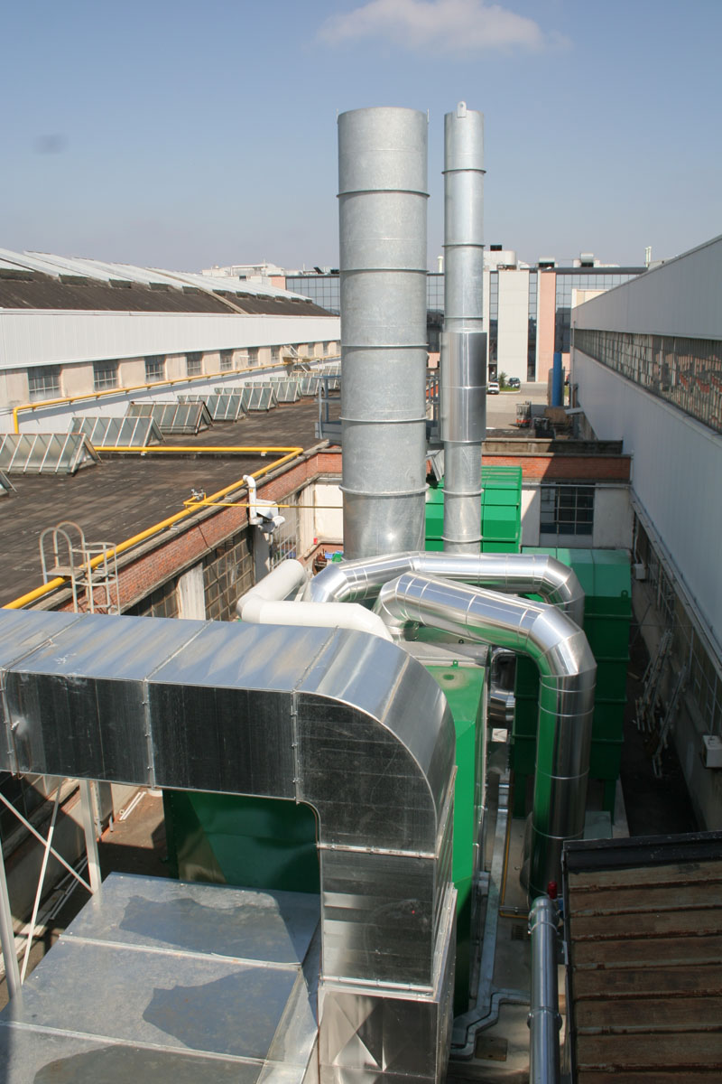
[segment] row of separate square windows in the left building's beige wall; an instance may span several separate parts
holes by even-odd
[[[309,350],[315,351],[316,343],[299,343],[294,346],[299,352]],[[327,357],[333,353],[336,348],[330,344],[324,344],[324,352]],[[280,346],[271,347],[271,362],[280,361]],[[235,360],[234,360],[235,359]],[[119,388],[118,373],[119,362],[94,361],[93,362],[93,391],[110,391]],[[200,350],[191,351],[185,360],[186,376],[202,376],[204,354]],[[259,348],[249,347],[247,350],[236,352],[234,350],[221,350],[219,369],[222,373],[233,371],[235,367],[254,369],[259,365]],[[166,358],[162,354],[152,354],[145,359],[145,383],[157,384],[167,378]],[[44,402],[48,399],[60,399],[63,395],[62,366],[61,365],[38,365],[27,371],[28,395],[30,402]]]

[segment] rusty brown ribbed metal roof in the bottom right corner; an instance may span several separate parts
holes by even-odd
[[[722,1079],[722,833],[567,844],[576,1084]]]

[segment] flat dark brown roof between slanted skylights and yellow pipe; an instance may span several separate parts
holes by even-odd
[[[340,401],[339,401],[340,403]],[[297,446],[313,448],[318,403],[305,398],[251,413],[236,423],[215,423],[196,437],[166,437],[163,448],[209,446]],[[211,494],[280,453],[178,456],[104,454],[97,466],[75,475],[11,475],[15,492],[0,500],[0,606],[42,584],[39,540],[47,527],[70,519],[88,543],[113,545],[183,509],[191,490]]]

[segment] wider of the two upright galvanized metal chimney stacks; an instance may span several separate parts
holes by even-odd
[[[423,545],[426,366],[424,113],[339,117],[343,542]]]

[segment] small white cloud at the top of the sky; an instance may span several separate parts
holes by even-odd
[[[484,0],[369,0],[347,14],[332,15],[318,34],[329,44],[382,38],[402,48],[447,54],[540,52],[564,43],[534,20]]]

